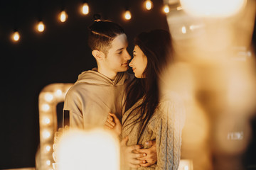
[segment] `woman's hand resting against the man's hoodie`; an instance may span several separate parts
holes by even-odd
[[[120,123],[120,120],[117,118],[117,115],[109,113],[105,122],[105,128],[114,130],[117,135],[121,134],[122,125]]]

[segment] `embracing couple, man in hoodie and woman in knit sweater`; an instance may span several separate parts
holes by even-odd
[[[122,140],[122,169],[178,169],[185,109],[178,95],[159,89],[173,61],[169,32],[140,33],[131,57],[123,28],[97,20],[88,45],[97,69],[82,72],[65,97],[70,128],[113,130]]]

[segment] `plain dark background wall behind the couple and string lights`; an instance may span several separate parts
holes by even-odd
[[[94,13],[124,28],[130,54],[132,40],[138,33],[155,28],[168,30],[161,0],[153,1],[151,11],[143,8],[142,0],[88,1],[87,16],[80,15],[82,1],[78,0],[1,0],[0,3],[0,169],[35,166],[41,89],[53,83],[74,83],[80,72],[96,66],[87,47],[87,26],[92,24]],[[130,21],[122,18],[126,6],[132,12]],[[57,20],[62,7],[68,13],[65,23]],[[46,30],[36,33],[34,26],[40,17]],[[21,35],[18,43],[10,40],[14,28]]]

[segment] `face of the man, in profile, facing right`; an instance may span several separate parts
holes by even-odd
[[[128,61],[131,56],[127,52],[128,42],[125,34],[117,35],[112,41],[111,47],[105,57],[105,67],[110,72],[125,72],[127,71]]]

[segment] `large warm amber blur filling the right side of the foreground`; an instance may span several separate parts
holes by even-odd
[[[186,103],[181,157],[193,159],[198,170],[242,169],[256,108],[255,54],[250,52],[256,1],[181,2],[189,4],[181,3],[184,11],[166,14],[176,63],[165,79]],[[187,89],[188,99],[182,95]]]

